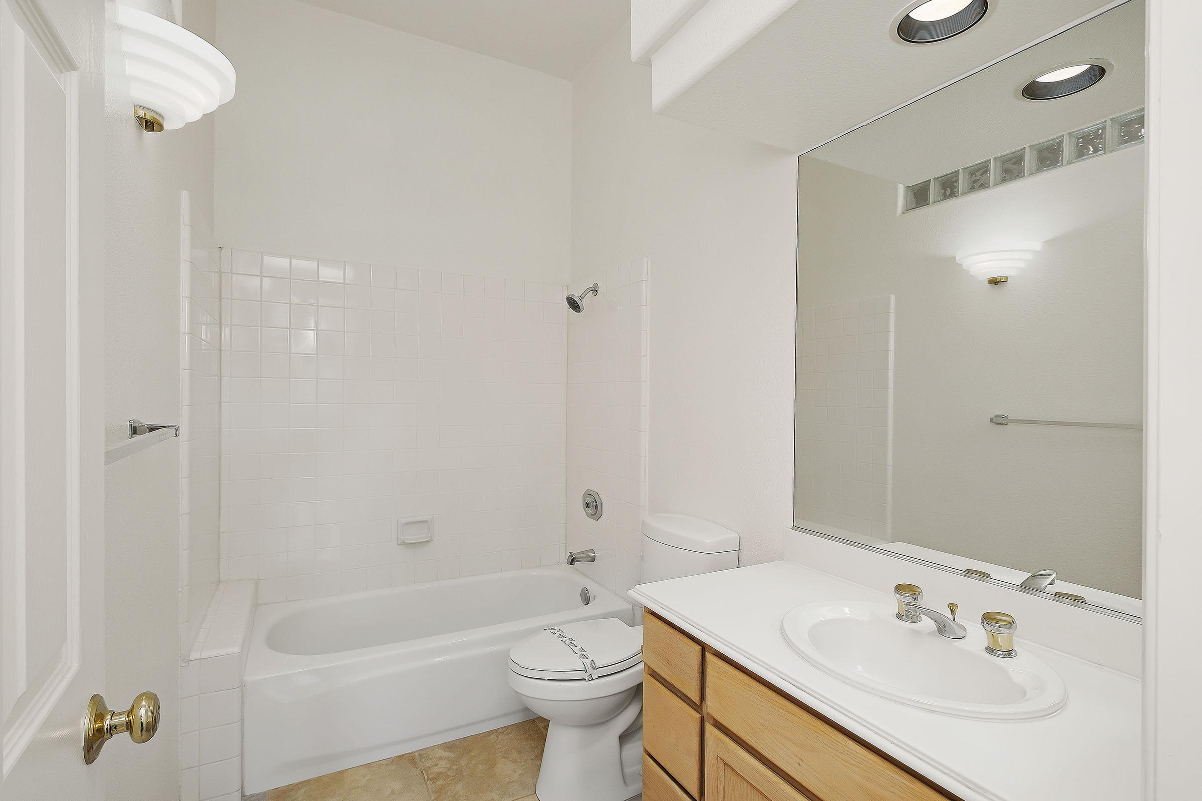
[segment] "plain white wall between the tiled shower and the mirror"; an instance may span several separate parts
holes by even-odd
[[[781,556],[792,509],[793,156],[657,116],[619,31],[577,77],[572,286],[649,257],[648,512]]]

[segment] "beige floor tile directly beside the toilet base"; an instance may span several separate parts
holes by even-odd
[[[417,761],[434,801],[517,801],[534,794],[546,739],[525,721],[423,748]]]

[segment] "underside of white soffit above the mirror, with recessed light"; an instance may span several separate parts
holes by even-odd
[[[804,153],[1114,2],[993,0],[964,34],[909,44],[893,28],[912,0],[783,1],[785,11],[736,52],[655,102],[667,116]]]

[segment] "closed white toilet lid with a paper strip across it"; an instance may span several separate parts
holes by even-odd
[[[643,627],[617,617],[548,626],[510,651],[510,668],[531,679],[597,679],[642,659]]]

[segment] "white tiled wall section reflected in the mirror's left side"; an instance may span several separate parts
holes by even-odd
[[[889,540],[893,295],[797,312],[793,518]]]

